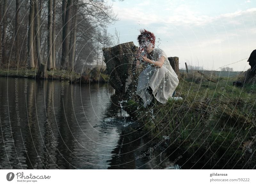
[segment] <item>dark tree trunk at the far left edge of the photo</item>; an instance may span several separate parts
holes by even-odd
[[[3,5],[3,20],[2,20],[2,23],[3,23],[3,35],[2,35],[2,42],[5,40],[5,44],[3,44],[1,42],[1,47],[3,47],[3,57],[2,57],[2,60],[3,62],[6,64],[7,61],[6,61],[6,51],[5,51],[5,48],[6,48],[6,27],[7,27],[7,16],[6,16],[6,10],[7,10],[7,0],[4,0],[4,5]]]

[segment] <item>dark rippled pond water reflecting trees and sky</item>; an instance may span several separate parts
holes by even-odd
[[[108,84],[0,77],[0,169],[163,168],[138,159],[147,141],[117,102]]]

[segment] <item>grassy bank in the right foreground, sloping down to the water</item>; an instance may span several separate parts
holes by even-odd
[[[144,109],[129,100],[126,110],[153,140],[170,137],[164,152],[170,160],[182,156],[181,168],[255,168],[256,85],[241,88],[232,85],[235,77],[213,78],[218,82],[182,75],[176,89],[182,101],[155,101]]]

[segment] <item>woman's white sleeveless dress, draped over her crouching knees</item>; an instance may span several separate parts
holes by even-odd
[[[162,49],[154,48],[151,60],[158,61],[161,56],[164,56],[164,64],[161,68],[148,66],[139,75],[136,94],[142,98],[145,108],[153,100],[146,90],[147,87],[151,87],[158,102],[166,103],[179,83],[178,76]]]

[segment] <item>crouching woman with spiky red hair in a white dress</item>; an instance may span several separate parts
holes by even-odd
[[[160,103],[166,103],[179,83],[164,51],[155,48],[155,40],[154,33],[140,30],[136,70],[140,62],[145,62],[147,68],[139,75],[136,93],[142,98],[145,108],[151,103],[153,96]]]

